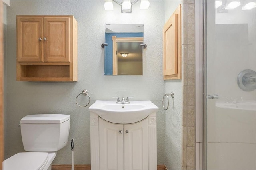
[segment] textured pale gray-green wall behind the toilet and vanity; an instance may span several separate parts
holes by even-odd
[[[88,107],[80,108],[75,103],[76,96],[87,89],[91,96],[90,105],[95,100],[112,100],[113,96],[134,96],[134,100],[151,100],[155,103],[159,107],[158,164],[165,163],[165,147],[172,147],[165,144],[165,128],[170,128],[171,123],[176,126],[178,121],[175,118],[166,122],[166,117],[173,115],[167,115],[162,109],[165,91],[162,77],[164,1],[150,1],[148,10],[139,10],[139,6],[137,2],[132,6],[132,14],[122,14],[116,3],[114,11],[105,11],[103,0],[10,2],[10,7],[7,7],[6,158],[24,152],[18,127],[22,117],[29,114],[62,113],[71,117],[69,141],[71,138],[75,140],[74,163],[90,164],[89,111]],[[16,15],[74,15],[78,21],[78,82],[16,81]],[[143,76],[104,76],[104,49],[100,44],[104,42],[105,23],[144,24],[147,49],[144,51]],[[169,82],[166,92],[172,89]],[[71,164],[69,145],[58,151],[53,164]]]

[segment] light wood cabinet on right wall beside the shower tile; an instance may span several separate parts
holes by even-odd
[[[181,5],[163,29],[164,80],[181,79]]]

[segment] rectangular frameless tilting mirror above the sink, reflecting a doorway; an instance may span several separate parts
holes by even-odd
[[[104,75],[143,75],[143,24],[105,24]]]

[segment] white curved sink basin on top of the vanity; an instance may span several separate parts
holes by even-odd
[[[158,107],[151,101],[130,101],[130,103],[120,104],[114,100],[96,100],[89,107],[89,111],[96,113],[102,119],[112,123],[134,123],[138,122],[153,112],[158,111]]]

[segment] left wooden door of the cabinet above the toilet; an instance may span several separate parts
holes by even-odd
[[[17,61],[43,62],[43,18],[17,18]]]

